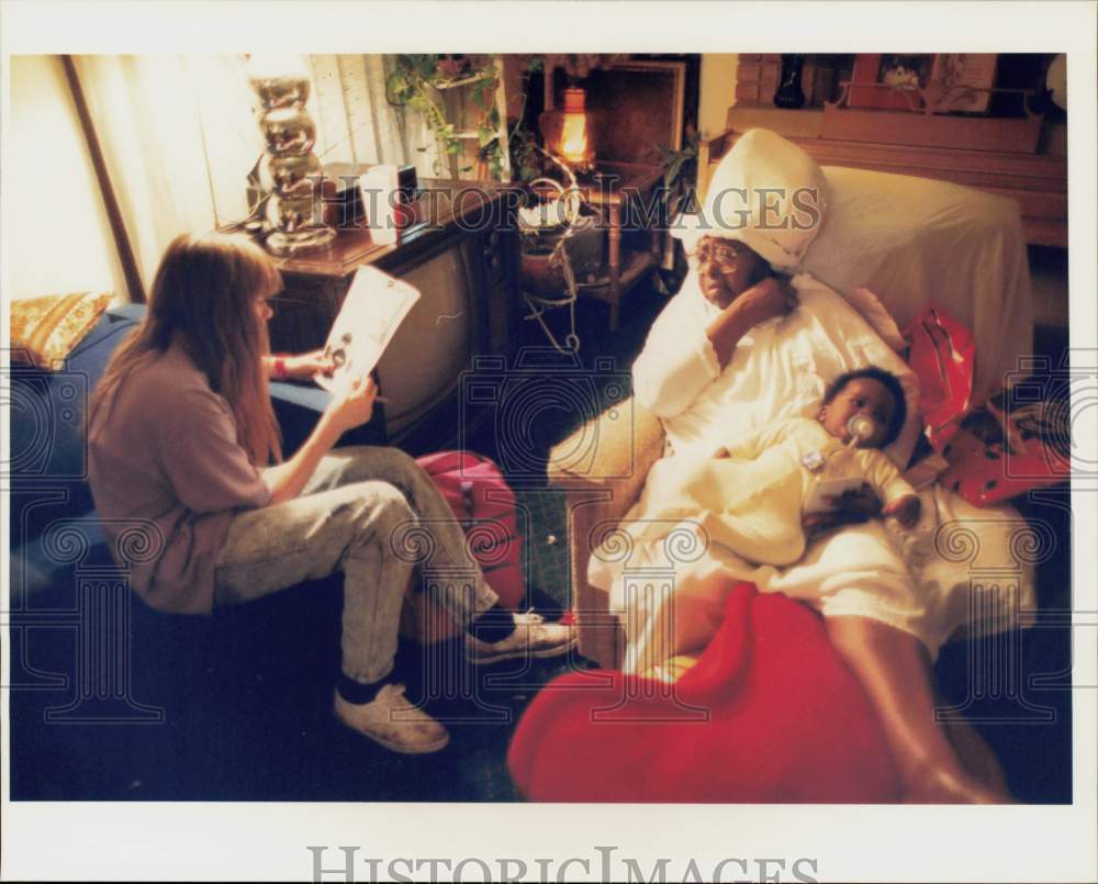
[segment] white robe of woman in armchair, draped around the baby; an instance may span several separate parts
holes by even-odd
[[[793,284],[799,306],[789,316],[752,328],[721,371],[705,332],[718,311],[704,299],[696,272],[691,272],[657,318],[634,365],[638,401],[661,418],[670,450],[708,458],[729,439],[765,424],[815,414],[829,381],[875,365],[895,373],[907,393],[908,423],[885,449],[898,466],[906,465],[920,432],[917,381],[910,369],[841,295],[807,275],[795,277]],[[968,530],[976,531],[979,542],[967,558],[963,550],[933,557],[918,580],[879,521],[824,537],[788,568],[765,566],[750,574],[738,557],[709,548],[695,524],[677,522],[664,526],[662,542],[595,550],[589,580],[610,592],[629,642],[627,671],[645,671],[675,653],[704,647],[719,625],[735,577],[752,580],[761,592],[800,598],[825,616],[858,615],[886,623],[917,636],[932,656],[963,625],[975,630],[1009,628],[1019,609],[1035,606],[1032,568],[1011,555],[1011,541],[1026,529],[1011,507],[977,510],[938,485],[920,496],[941,526],[939,548],[955,549],[953,535]],[[642,512],[630,517],[649,518]],[[990,588],[981,584],[993,597],[977,605],[971,577],[988,559],[1005,569],[1004,578]],[[986,614],[974,623],[970,612],[975,607]]]

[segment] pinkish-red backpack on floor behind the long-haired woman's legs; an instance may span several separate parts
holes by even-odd
[[[438,451],[416,459],[461,519],[473,556],[500,604],[517,608],[526,595],[523,538],[515,494],[500,468],[471,451]]]

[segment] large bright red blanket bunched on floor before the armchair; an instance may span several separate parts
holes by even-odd
[[[861,685],[820,618],[738,583],[717,636],[673,686],[617,671],[562,675],[508,752],[541,802],[895,802]]]

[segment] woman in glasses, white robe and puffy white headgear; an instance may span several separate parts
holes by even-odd
[[[661,418],[670,454],[684,468],[776,418],[815,414],[828,382],[867,365],[900,379],[910,417],[885,454],[901,469],[910,458],[920,430],[910,369],[840,295],[807,275],[781,276],[800,261],[826,206],[819,167],[773,133],[743,135],[715,172],[698,220],[696,272],[656,321],[632,370],[638,401]],[[875,500],[848,504],[818,527],[879,513]],[[638,507],[627,516],[643,519]],[[593,556],[591,581],[610,590],[626,626],[627,670],[642,672],[703,647],[722,616],[731,578],[751,580],[761,592],[784,592],[824,615],[879,714],[907,799],[1009,799],[1000,777],[987,783],[965,771],[934,723],[930,659],[955,624],[916,591],[879,524],[830,534],[784,571],[744,570],[721,549],[706,549],[704,537],[693,539],[704,552],[690,562],[666,561],[664,544],[638,544],[626,562]],[[627,597],[626,571],[650,567],[674,569],[671,596]]]

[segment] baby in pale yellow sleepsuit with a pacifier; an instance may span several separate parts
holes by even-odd
[[[697,522],[710,542],[746,561],[793,564],[807,544],[806,517],[834,508],[844,491],[863,484],[885,516],[905,528],[919,521],[918,495],[878,450],[899,435],[906,416],[895,376],[875,367],[850,371],[828,387],[815,419],[771,424],[685,469],[674,463],[679,458],[661,461],[645,495],[660,502],[659,519]]]

